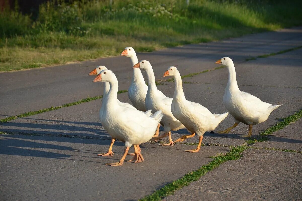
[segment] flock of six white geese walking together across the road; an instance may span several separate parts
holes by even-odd
[[[239,122],[249,125],[248,135],[240,137],[251,137],[252,126],[267,120],[270,113],[281,105],[271,105],[261,101],[259,98],[239,90],[236,81],[236,72],[232,59],[223,57],[215,64],[225,65],[229,72],[228,83],[223,96],[223,104],[228,112],[213,114],[199,103],[188,101],[182,88],[182,78],[178,69],[171,66],[164,72],[163,77],[172,76],[175,80],[175,91],[173,98],[165,96],[157,90],[152,66],[149,61],[138,61],[133,48],[127,47],[120,54],[129,57],[132,63],[133,76],[128,89],[129,103],[120,102],[117,99],[118,82],[114,73],[105,66],[98,66],[89,75],[97,75],[93,82],[104,82],[103,102],[99,111],[99,118],[103,127],[111,136],[111,145],[107,153],[100,156],[112,156],[112,147],[115,140],[125,144],[124,155],[119,162],[106,165],[118,166],[124,163],[127,155],[133,155],[133,159],[127,162],[143,162],[140,144],[148,141],[157,141],[163,137],[169,137],[169,143],[162,146],[173,146],[187,138],[198,136],[199,142],[196,149],[187,152],[198,152],[200,150],[203,134],[206,131],[215,130],[223,119],[230,113],[234,118],[234,125],[218,133],[229,133]],[[143,74],[146,71],[148,85],[146,85]],[[159,126],[162,125],[165,133],[159,136]],[[171,130],[186,128],[189,135],[183,135],[173,141]],[[134,152],[128,153],[133,145]]]

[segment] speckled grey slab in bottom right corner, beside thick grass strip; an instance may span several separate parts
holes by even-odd
[[[301,200],[302,153],[248,149],[164,200]]]

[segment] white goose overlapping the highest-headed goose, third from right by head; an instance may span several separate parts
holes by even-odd
[[[142,60],[135,64],[133,68],[141,68],[147,73],[148,92],[146,95],[146,108],[152,109],[152,111],[162,110],[162,113],[164,114],[160,124],[164,127],[165,133],[159,137],[153,138],[153,140],[158,140],[168,135],[169,143],[163,144],[162,146],[173,146],[174,143],[171,138],[171,130],[179,130],[181,128],[184,128],[185,126],[172,114],[172,98],[168,98],[163,93],[159,93],[159,91],[157,90],[153,69],[149,61]]]

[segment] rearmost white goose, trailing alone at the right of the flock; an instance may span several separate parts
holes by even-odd
[[[249,125],[249,134],[240,137],[251,137],[252,126],[267,120],[271,112],[281,105],[271,105],[259,98],[239,90],[236,81],[236,71],[232,59],[223,57],[215,64],[225,65],[229,71],[229,80],[223,96],[223,103],[226,109],[233,116],[235,124],[219,133],[229,133],[240,122]]]

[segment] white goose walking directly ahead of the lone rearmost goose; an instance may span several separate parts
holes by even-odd
[[[182,78],[174,66],[168,68],[163,77],[172,76],[175,80],[175,90],[171,111],[175,118],[185,125],[191,135],[184,135],[175,142],[182,142],[187,138],[194,137],[195,133],[199,138],[196,149],[186,150],[187,152],[198,152],[200,150],[203,134],[206,131],[214,130],[220,122],[226,118],[228,112],[223,114],[212,114],[210,110],[196,102],[188,101],[182,89]]]

